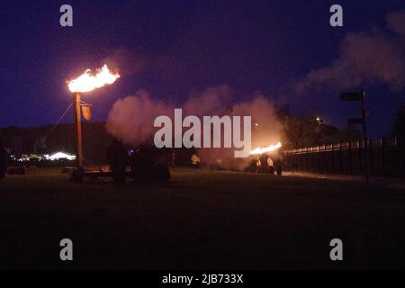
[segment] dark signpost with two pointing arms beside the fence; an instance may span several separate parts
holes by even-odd
[[[365,90],[360,92],[350,92],[340,94],[340,99],[342,101],[360,101],[362,105],[362,117],[361,118],[351,118],[348,120],[350,124],[362,124],[363,127],[363,148],[365,151],[365,187],[368,189],[370,184],[369,166],[368,166],[368,143],[367,143],[367,130],[365,126]]]

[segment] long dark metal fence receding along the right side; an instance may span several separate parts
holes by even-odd
[[[284,168],[316,173],[359,175],[369,160],[371,175],[405,176],[404,145],[398,139],[362,140],[284,150]]]

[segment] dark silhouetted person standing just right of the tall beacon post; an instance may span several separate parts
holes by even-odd
[[[120,140],[112,139],[112,144],[107,148],[107,160],[111,166],[115,184],[117,186],[124,185],[129,154]]]

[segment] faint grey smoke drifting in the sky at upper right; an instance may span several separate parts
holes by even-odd
[[[339,56],[329,67],[304,76],[297,93],[319,85],[351,88],[365,83],[387,84],[393,91],[405,86],[405,11],[388,14],[387,31],[348,33]]]

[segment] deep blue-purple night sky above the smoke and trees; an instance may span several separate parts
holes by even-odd
[[[73,27],[59,25],[61,4],[72,5]],[[331,4],[343,6],[344,27],[329,25]],[[328,67],[348,32],[383,30],[385,16],[404,9],[403,0],[2,0],[0,127],[53,124],[71,101],[65,79],[104,62],[121,78],[85,94],[94,121],[104,121],[115,100],[139,89],[181,103],[190,92],[229,85],[239,99],[260,91],[289,103],[295,114],[320,114],[342,126],[358,107],[339,100],[339,87],[300,94],[294,86]],[[361,86],[368,93],[370,134],[383,136],[405,103],[404,89]]]

